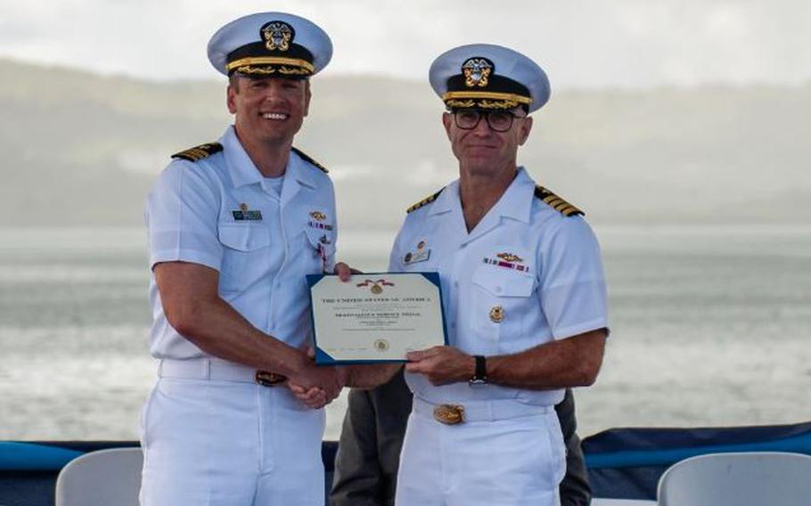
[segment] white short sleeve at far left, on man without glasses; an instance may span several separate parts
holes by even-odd
[[[217,271],[223,247],[217,239],[220,197],[199,167],[175,161],[160,174],[146,200],[150,267],[191,262]]]

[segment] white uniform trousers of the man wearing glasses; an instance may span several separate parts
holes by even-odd
[[[397,506],[559,506],[566,449],[553,406],[464,404],[445,425],[414,398],[397,474]]]

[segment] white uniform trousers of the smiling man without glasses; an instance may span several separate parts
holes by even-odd
[[[324,410],[234,363],[161,369],[143,408],[142,506],[324,505]]]

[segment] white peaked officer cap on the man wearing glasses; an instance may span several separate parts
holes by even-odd
[[[501,45],[460,45],[442,53],[428,72],[448,110],[540,109],[551,90],[544,69]]]

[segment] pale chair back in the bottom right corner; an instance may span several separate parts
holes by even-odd
[[[676,462],[659,478],[660,506],[808,506],[811,457],[709,453]]]

